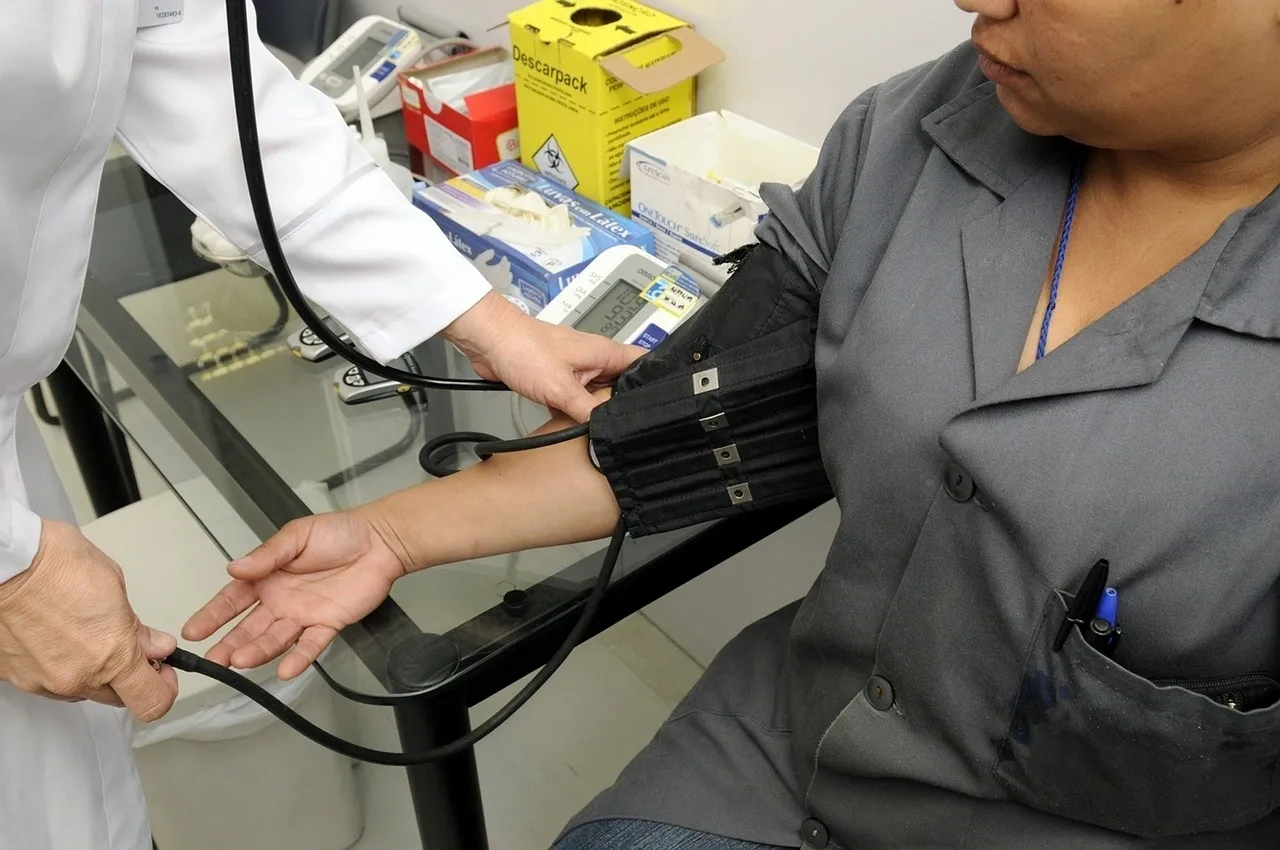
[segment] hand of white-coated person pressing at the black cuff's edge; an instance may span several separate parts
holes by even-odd
[[[585,422],[600,399],[591,389],[612,383],[644,349],[539,321],[498,293],[444,329],[486,380]]]

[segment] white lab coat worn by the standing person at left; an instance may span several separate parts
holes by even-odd
[[[41,516],[72,518],[23,396],[72,339],[111,140],[260,256],[224,0],[186,0],[182,23],[147,29],[137,3],[0,0],[0,581],[29,566]],[[489,292],[323,95],[259,42],[253,63],[275,220],[312,301],[385,362]],[[0,684],[0,850],[150,847],[128,726]]]

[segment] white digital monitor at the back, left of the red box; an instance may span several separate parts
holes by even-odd
[[[352,79],[352,68],[358,67],[371,116],[381,118],[399,109],[399,72],[417,64],[426,47],[422,36],[412,27],[381,15],[369,15],[357,20],[307,64],[298,79],[333,99],[342,116],[352,122],[358,116],[357,81]]]

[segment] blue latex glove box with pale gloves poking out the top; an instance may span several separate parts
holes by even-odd
[[[513,189],[500,192],[500,189]],[[554,207],[556,216],[511,211],[518,195],[526,209]],[[653,232],[625,215],[540,177],[520,163],[498,163],[433,187],[419,186],[413,205],[426,211],[453,246],[484,273],[494,289],[518,297],[532,315],[543,310],[603,251],[631,245],[650,253]],[[507,206],[504,206],[507,205]],[[550,223],[558,218],[567,234]]]

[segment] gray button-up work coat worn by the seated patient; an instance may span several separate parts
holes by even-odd
[[[1078,155],[1014,125],[965,45],[854,102],[804,189],[769,187],[760,239],[822,292],[840,530],[580,821],[1280,845],[1280,708],[1161,681],[1280,671],[1280,196],[1019,374]],[[1053,652],[1100,558],[1120,649]]]

